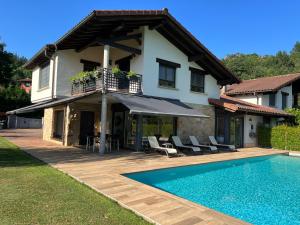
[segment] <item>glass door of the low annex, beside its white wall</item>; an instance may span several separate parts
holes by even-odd
[[[230,144],[235,145],[237,148],[243,147],[244,138],[244,119],[243,117],[230,118]]]

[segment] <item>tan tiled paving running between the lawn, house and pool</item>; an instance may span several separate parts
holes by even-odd
[[[240,152],[180,158],[126,151],[118,155],[99,156],[96,153],[86,153],[77,148],[62,147],[42,141],[40,130],[4,130],[0,131],[0,136],[7,137],[29,154],[117,201],[123,207],[134,211],[146,220],[166,225],[236,225],[246,223],[133,181],[121,174],[284,153],[284,151],[249,148],[241,149]]]

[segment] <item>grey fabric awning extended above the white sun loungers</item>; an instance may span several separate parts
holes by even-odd
[[[111,93],[111,96],[124,104],[130,114],[164,115],[176,117],[208,118],[200,110],[193,109],[176,99],[157,98],[153,96],[136,96]]]

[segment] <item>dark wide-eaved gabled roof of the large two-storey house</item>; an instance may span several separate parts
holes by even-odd
[[[127,35],[141,26],[155,29],[185,55],[214,76],[221,85],[240,80],[199,40],[185,29],[167,9],[163,10],[94,10],[53,44],[48,44],[25,65],[33,69],[44,63],[56,50],[81,49],[95,38],[112,37],[112,31],[122,27],[114,36]]]

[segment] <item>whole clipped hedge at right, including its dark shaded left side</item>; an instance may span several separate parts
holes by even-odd
[[[300,151],[300,126],[258,126],[257,137],[261,147]]]

